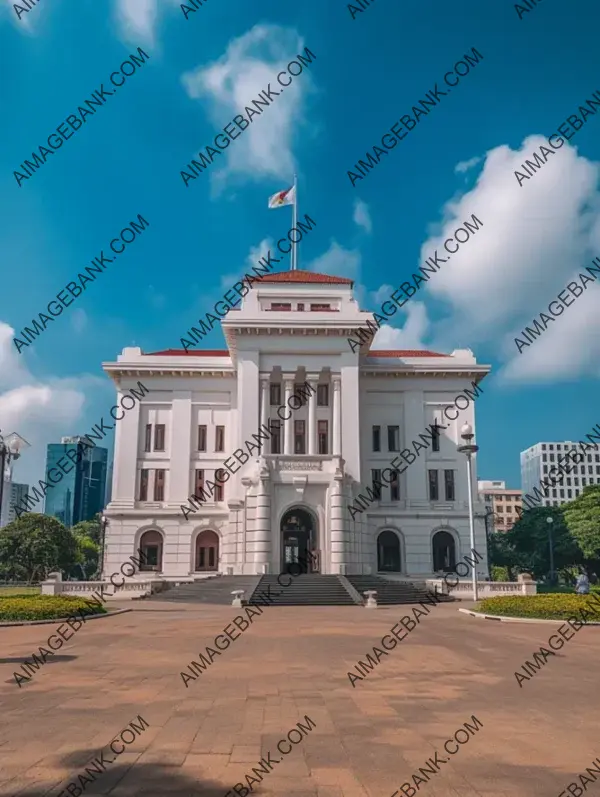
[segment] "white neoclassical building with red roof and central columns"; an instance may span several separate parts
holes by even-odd
[[[266,275],[222,321],[227,350],[125,348],[103,364],[119,394],[149,390],[116,424],[105,575],[138,549],[143,569],[174,580],[282,572],[308,552],[321,573],[422,578],[470,553],[457,445],[465,421],[475,428],[464,391],[489,366],[469,350],[351,346],[373,318],[352,289],[313,272]],[[312,395],[294,400],[306,384]],[[269,439],[253,450],[259,429]],[[475,547],[485,577],[481,518]]]

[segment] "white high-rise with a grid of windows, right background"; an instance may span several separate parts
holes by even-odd
[[[583,453],[579,443],[563,441],[562,443],[536,443],[534,446],[521,452],[521,487],[523,499],[527,495],[534,496],[533,501],[539,506],[560,506],[567,501],[573,501],[590,484],[600,484],[600,453],[598,446],[593,444],[594,451]],[[566,459],[566,454],[577,450],[578,455],[573,459]],[[568,473],[559,474],[557,468],[565,463]],[[534,488],[539,493],[544,489],[540,487],[542,479],[546,479],[552,471],[556,486],[548,489],[548,495],[541,500],[535,496]]]

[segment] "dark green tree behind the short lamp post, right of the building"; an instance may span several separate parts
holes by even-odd
[[[554,570],[569,575],[569,568],[582,564],[584,554],[577,540],[567,527],[560,507],[535,507],[523,512],[510,531],[506,532],[506,543],[512,546],[516,566],[521,572],[528,571],[535,578],[550,572],[549,523],[552,522],[552,549]],[[502,564],[502,563],[498,563]]]

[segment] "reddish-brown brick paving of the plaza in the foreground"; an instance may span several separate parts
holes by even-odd
[[[150,727],[86,797],[223,797],[269,751],[281,763],[252,794],[390,797],[473,714],[483,728],[420,797],[558,797],[600,756],[599,628],[582,629],[519,688],[514,671],[551,627],[440,605],[352,688],[347,671],[406,608],[273,608],[186,689],[180,672],[239,610],[127,605],[80,629],[21,689],[12,672],[48,626],[0,629],[1,797],[58,795],[138,715]],[[305,715],[316,728],[278,755]]]

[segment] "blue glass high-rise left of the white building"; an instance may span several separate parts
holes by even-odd
[[[48,489],[44,506],[46,515],[52,515],[67,527],[81,520],[91,520],[104,509],[108,451],[97,446],[90,448],[80,441],[81,437],[63,437],[60,443],[49,443],[46,453],[45,481],[49,485],[52,481],[48,473],[57,468],[61,458],[67,457],[67,462],[73,462],[73,469]],[[83,449],[79,461],[76,459],[78,448]],[[68,456],[68,451],[75,454]],[[57,470],[64,473],[60,468]]]

